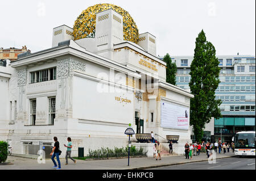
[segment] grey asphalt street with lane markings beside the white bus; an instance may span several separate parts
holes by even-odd
[[[183,165],[158,167],[150,170],[255,170],[255,157],[217,159],[216,163],[195,162]]]

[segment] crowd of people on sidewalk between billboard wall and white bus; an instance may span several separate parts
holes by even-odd
[[[222,153],[222,149],[223,149],[223,153],[226,153],[226,150],[229,153],[229,149],[233,150],[234,153],[234,143],[232,142],[231,145],[227,144],[226,142],[215,142],[214,144],[211,142],[207,142],[205,143],[204,141],[201,142],[201,144],[199,142],[195,142],[194,144],[188,144],[188,142],[185,144],[184,149],[185,149],[185,159],[192,159],[192,155],[197,156],[200,155],[200,150],[201,148],[204,148],[204,150],[206,150],[207,153],[207,158],[210,157],[210,155],[212,155],[212,150],[214,149],[214,151],[217,153],[217,149],[219,153]]]

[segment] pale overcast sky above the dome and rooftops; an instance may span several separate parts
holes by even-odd
[[[139,33],[156,36],[156,55],[193,56],[204,30],[217,55],[255,56],[255,0],[1,1],[0,48],[26,45],[32,53],[51,48],[54,27],[73,27],[77,16],[97,3],[128,11]]]

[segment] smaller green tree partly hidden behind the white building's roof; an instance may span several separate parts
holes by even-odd
[[[177,72],[177,66],[174,63],[172,63],[172,59],[170,57],[170,54],[166,54],[163,57],[163,61],[166,62],[167,68],[166,68],[166,82],[171,83],[172,85],[176,84],[175,75]]]

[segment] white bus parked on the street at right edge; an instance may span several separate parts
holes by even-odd
[[[255,131],[238,132],[232,140],[235,144],[236,155],[255,156]]]

